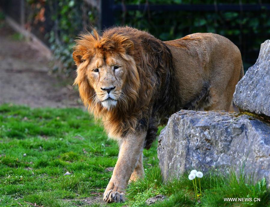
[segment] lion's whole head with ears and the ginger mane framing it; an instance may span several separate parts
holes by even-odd
[[[99,36],[93,30],[93,34],[83,34],[76,40],[74,85],[78,85],[83,104],[95,117],[126,113],[138,100],[141,83],[134,43],[129,38],[117,31]]]

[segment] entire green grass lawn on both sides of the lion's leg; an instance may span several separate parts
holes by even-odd
[[[87,206],[84,200],[103,197],[112,174],[105,169],[114,167],[118,146],[86,111],[5,104],[0,106],[0,130],[0,206]],[[197,202],[187,175],[162,182],[156,146],[144,151],[146,177],[128,187],[126,205],[145,206],[145,200],[157,194],[167,198],[151,206],[270,205],[264,179],[251,185],[244,177],[219,176],[217,171],[201,179]],[[64,175],[67,171],[71,174]],[[224,197],[260,202],[225,202]]]

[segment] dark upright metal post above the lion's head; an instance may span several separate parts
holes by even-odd
[[[114,0],[101,0],[101,29],[114,25]]]

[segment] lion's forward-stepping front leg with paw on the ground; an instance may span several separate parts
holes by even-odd
[[[104,192],[103,200],[107,203],[124,202],[125,190],[141,156],[146,132],[128,135],[120,142],[120,150],[113,175]]]

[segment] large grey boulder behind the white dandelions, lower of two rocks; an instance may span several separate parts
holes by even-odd
[[[213,167],[270,180],[270,124],[245,114],[187,111],[173,114],[158,140],[159,167],[165,180],[192,169]]]

